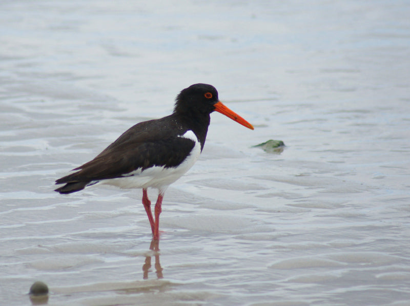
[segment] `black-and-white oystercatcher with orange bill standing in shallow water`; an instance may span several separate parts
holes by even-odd
[[[142,188],[142,204],[153,239],[158,240],[159,214],[165,190],[198,159],[207,137],[210,113],[215,110],[254,129],[219,101],[215,87],[194,84],[177,95],[170,116],[134,125],[92,161],[73,169],[77,170],[75,173],[56,180],[56,184],[65,185],[55,191],[71,194],[96,183]],[[155,220],[148,187],[158,189]]]

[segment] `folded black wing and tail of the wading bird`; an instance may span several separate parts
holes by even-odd
[[[71,184],[73,188],[65,192],[70,193],[89,182],[123,177],[136,169],[176,167],[190,155],[195,142],[178,136],[184,132],[183,127],[170,128],[161,122],[159,119],[134,125],[97,157],[75,168],[77,172],[56,180],[56,184]],[[56,191],[64,192],[66,186]]]

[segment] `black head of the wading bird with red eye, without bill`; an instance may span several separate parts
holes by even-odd
[[[218,103],[218,91],[212,85],[194,84],[182,89],[176,97],[174,113],[210,114]]]

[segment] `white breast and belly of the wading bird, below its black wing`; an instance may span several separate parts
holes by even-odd
[[[103,180],[101,183],[115,185],[120,188],[157,188],[164,192],[165,189],[185,174],[198,160],[201,154],[201,144],[195,133],[188,130],[181,138],[187,138],[195,142],[187,158],[176,167],[153,166],[145,169],[138,168],[122,178]]]

